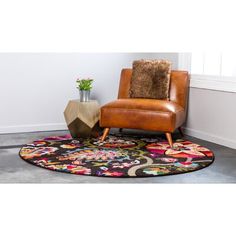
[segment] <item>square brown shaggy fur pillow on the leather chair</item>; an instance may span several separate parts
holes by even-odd
[[[168,99],[171,62],[138,60],[133,62],[131,98]]]

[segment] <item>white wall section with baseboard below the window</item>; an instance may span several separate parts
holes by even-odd
[[[236,93],[191,88],[186,132],[236,148]]]

